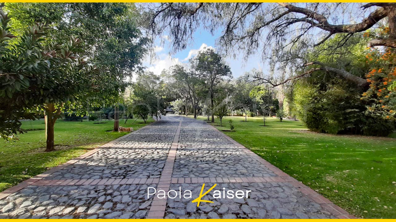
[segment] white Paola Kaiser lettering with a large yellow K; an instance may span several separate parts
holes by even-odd
[[[213,190],[213,188],[215,188],[216,185],[217,184],[213,185],[211,188],[209,188],[209,190],[204,192],[205,184],[202,184],[201,192],[200,192],[198,198],[192,200],[191,202],[197,203],[197,207],[199,207],[200,202],[213,203],[213,201],[204,200],[201,198],[203,198],[206,194],[208,194],[211,190]],[[242,198],[248,198],[250,192],[251,192],[251,190],[236,190],[236,191],[227,190],[226,191],[225,188],[223,187],[223,189],[221,189],[221,190],[213,190],[212,196],[214,199],[219,199],[219,198],[242,199]],[[179,190],[169,190],[168,192],[166,192],[165,190],[157,190],[154,187],[148,187],[147,188],[147,198],[150,198],[152,195],[156,195],[157,198],[159,198],[159,199],[165,199],[167,197],[170,199],[175,199],[175,198],[191,199],[192,198],[191,190],[183,190],[183,192],[182,192],[180,186],[179,186]]]

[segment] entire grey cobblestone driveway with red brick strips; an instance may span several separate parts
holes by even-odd
[[[203,183],[251,193],[197,207]],[[0,193],[0,218],[354,217],[205,122],[166,116]]]

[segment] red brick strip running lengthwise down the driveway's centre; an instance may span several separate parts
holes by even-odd
[[[171,184],[172,172],[173,172],[173,164],[175,164],[177,145],[179,143],[179,136],[181,130],[182,121],[179,121],[179,126],[177,126],[177,130],[175,133],[175,137],[173,138],[173,142],[171,145],[171,149],[168,153],[168,158],[166,159],[165,166],[162,169],[160,180],[158,181],[157,188],[161,188],[161,190],[168,191],[169,186]],[[166,199],[159,199],[156,196],[152,200],[150,210],[148,211],[146,219],[162,219],[165,215],[166,209]]]

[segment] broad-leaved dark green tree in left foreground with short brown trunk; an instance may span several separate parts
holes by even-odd
[[[10,17],[0,10],[1,136],[15,138],[20,118],[34,119],[32,110],[46,112],[47,148],[53,150],[53,126],[65,103],[74,102],[91,89],[93,68],[77,55],[81,41],[72,37],[63,45],[44,39],[47,28],[36,24],[16,38],[10,33]],[[9,44],[14,38],[13,45]]]

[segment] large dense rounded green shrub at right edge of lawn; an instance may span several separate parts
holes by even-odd
[[[362,92],[346,83],[301,86],[293,92],[293,112],[312,131],[386,136],[395,128],[393,121],[368,112]]]

